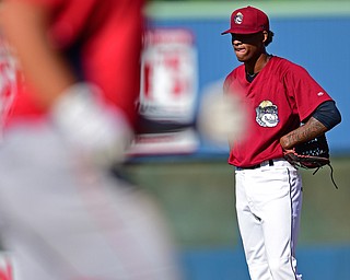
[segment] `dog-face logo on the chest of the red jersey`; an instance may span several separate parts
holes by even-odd
[[[261,127],[276,127],[278,119],[277,106],[270,101],[262,101],[256,110],[256,121]]]

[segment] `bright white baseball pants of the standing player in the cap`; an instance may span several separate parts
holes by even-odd
[[[301,280],[295,246],[302,180],[283,159],[273,166],[236,170],[237,221],[252,280]]]

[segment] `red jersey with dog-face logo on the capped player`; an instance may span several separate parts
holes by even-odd
[[[252,83],[245,66],[237,67],[226,77],[224,91],[238,94],[247,109],[246,136],[234,143],[229,158],[240,167],[282,158],[280,138],[331,100],[304,68],[280,57],[271,57]]]

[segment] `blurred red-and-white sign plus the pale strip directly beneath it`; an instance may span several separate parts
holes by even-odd
[[[198,61],[194,34],[154,28],[144,36],[139,98],[140,133],[131,155],[194,152]]]

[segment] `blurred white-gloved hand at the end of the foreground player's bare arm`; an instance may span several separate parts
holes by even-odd
[[[96,86],[74,84],[55,103],[51,117],[70,147],[93,163],[108,166],[124,160],[132,130],[122,112],[98,96]]]

